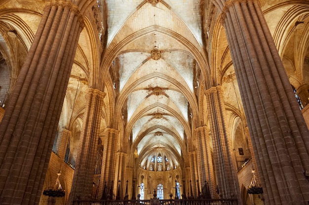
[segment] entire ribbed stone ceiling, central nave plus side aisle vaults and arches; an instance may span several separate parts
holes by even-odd
[[[207,124],[203,91],[210,86],[222,85],[228,115],[244,116],[220,13],[212,1],[97,2],[102,28],[94,28],[95,9],[89,9],[59,122],[60,128],[73,132],[72,147],[77,147],[87,88],[100,87],[98,83],[104,84],[100,88],[107,93],[100,135],[107,127],[119,130],[123,135],[119,146],[127,146],[139,162],[161,152],[182,163],[194,137],[193,127]],[[295,87],[307,82],[308,63],[303,63],[309,58],[309,52],[304,52],[309,47],[307,7],[291,6],[289,0],[260,2],[275,43],[284,45],[279,53],[290,79]],[[0,91],[2,103],[4,94],[14,87],[44,3],[0,1],[0,52],[6,62],[1,74],[10,78]],[[297,22],[303,23],[297,26]],[[100,36],[102,32],[101,42],[96,29]],[[298,50],[287,49],[291,46]],[[303,59],[293,57],[299,52]]]

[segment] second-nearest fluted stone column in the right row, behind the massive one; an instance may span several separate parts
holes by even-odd
[[[222,198],[238,199],[241,204],[240,189],[236,175],[235,162],[232,161],[232,148],[230,137],[225,127],[225,105],[221,86],[212,87],[204,92],[210,121],[210,131],[214,149],[214,164]]]

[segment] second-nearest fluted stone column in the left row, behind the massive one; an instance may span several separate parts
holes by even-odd
[[[78,145],[77,166],[74,171],[72,190],[68,204],[72,204],[73,200],[77,198],[86,200],[92,197],[92,182],[98,151],[97,146],[104,97],[105,93],[97,89],[89,88],[85,106],[85,116]]]

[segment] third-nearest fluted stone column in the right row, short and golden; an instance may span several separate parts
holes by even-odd
[[[209,136],[210,129],[207,126],[199,127],[194,130],[195,135],[197,135],[197,140],[199,143],[200,148],[198,148],[198,156],[199,156],[199,181],[200,185],[204,185],[204,181],[208,182],[210,188],[210,194],[212,198],[215,198],[215,176],[212,164],[212,157],[211,157],[211,140]]]

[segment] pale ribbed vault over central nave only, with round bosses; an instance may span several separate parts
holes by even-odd
[[[106,55],[116,53],[119,65],[116,107],[126,107],[124,137],[140,162],[164,152],[180,163],[190,118],[198,115],[196,59],[206,59],[200,2],[107,0],[106,6]]]

